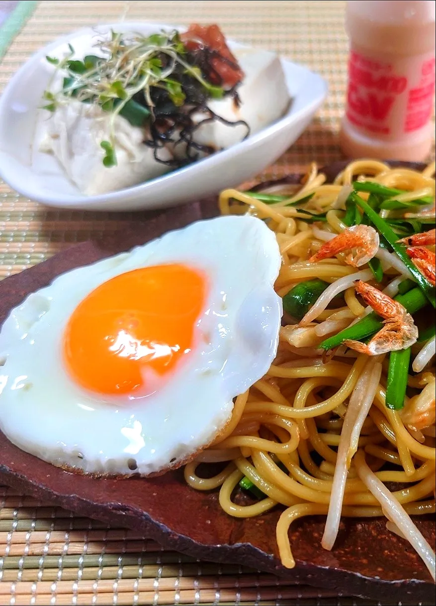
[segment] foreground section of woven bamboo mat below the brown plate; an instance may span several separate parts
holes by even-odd
[[[8,488],[0,487],[0,498],[8,505],[0,508],[0,606],[112,604],[115,598],[145,605],[377,603],[326,597],[242,566],[198,562],[134,531],[40,507]]]

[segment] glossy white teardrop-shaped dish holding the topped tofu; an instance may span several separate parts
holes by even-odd
[[[68,44],[78,56],[84,55],[96,34],[111,29],[149,35],[174,28],[184,29],[145,22],[98,25],[63,36],[35,53],[0,98],[0,176],[4,181],[21,195],[57,208],[119,211],[186,204],[235,187],[272,164],[301,135],[327,95],[327,84],[320,76],[281,59],[292,99],[283,118],[241,143],[157,179],[102,195],[83,195],[53,156],[32,149],[42,93],[54,70],[45,57],[63,56]],[[230,42],[229,46],[241,45]]]

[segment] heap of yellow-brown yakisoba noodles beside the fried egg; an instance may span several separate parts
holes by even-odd
[[[425,216],[427,224],[434,223],[434,171],[434,163],[415,171],[362,160],[349,164],[333,184],[327,184],[312,164],[302,184],[278,182],[260,190],[285,196],[273,203],[237,190],[221,193],[223,215],[248,212],[265,219],[275,231],[282,255],[276,281],[280,296],[315,278],[333,285],[327,290],[336,288],[342,296],[333,306],[332,297],[326,304],[321,295],[312,307],[314,317],[309,322],[303,319],[300,326],[284,315],[278,353],[267,375],[236,398],[225,433],[185,468],[191,487],[220,487],[220,505],[231,516],[258,516],[284,506],[277,543],[285,567],[295,564],[288,539],[294,520],[328,514],[322,544],[331,548],[339,516],[384,514],[389,530],[404,534],[435,574],[434,553],[409,518],[435,511],[434,336],[412,346],[411,359],[419,371],[408,376],[405,407],[389,409],[385,403],[389,356],[368,356],[341,345],[326,358],[318,348],[320,341],[371,311],[354,287],[357,278],[375,284],[368,264],[356,269],[345,263],[343,254],[308,262],[324,242],[347,228],[345,201],[356,180],[404,190],[394,196],[400,202],[433,199],[433,204],[419,208],[409,204],[405,210],[412,220],[424,221]],[[368,193],[360,195],[368,199]],[[311,217],[307,211],[325,213],[324,221],[307,221]],[[401,208],[382,210],[380,216],[405,218],[404,213]],[[379,253],[383,267],[379,288],[394,297],[408,271],[394,253],[381,248]],[[429,419],[420,428],[411,421],[414,407],[424,408]],[[227,462],[218,475],[207,479],[197,475],[199,464],[216,462]],[[264,494],[248,505],[232,499],[244,476]],[[386,482],[398,483],[399,488],[391,492]]]

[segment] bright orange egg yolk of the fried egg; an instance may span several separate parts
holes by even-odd
[[[128,271],[77,305],[63,336],[74,381],[101,394],[148,395],[189,355],[206,278],[181,264]]]

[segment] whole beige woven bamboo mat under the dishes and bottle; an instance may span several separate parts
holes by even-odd
[[[39,47],[96,22],[218,22],[227,36],[276,50],[319,72],[330,94],[301,138],[264,177],[341,158],[345,95],[345,2],[21,2],[0,33],[0,91]],[[49,210],[0,182],[0,278],[43,261],[91,234],[108,233],[126,214]],[[133,531],[74,516],[0,487],[2,604],[371,604],[286,584],[234,565],[197,562]]]

